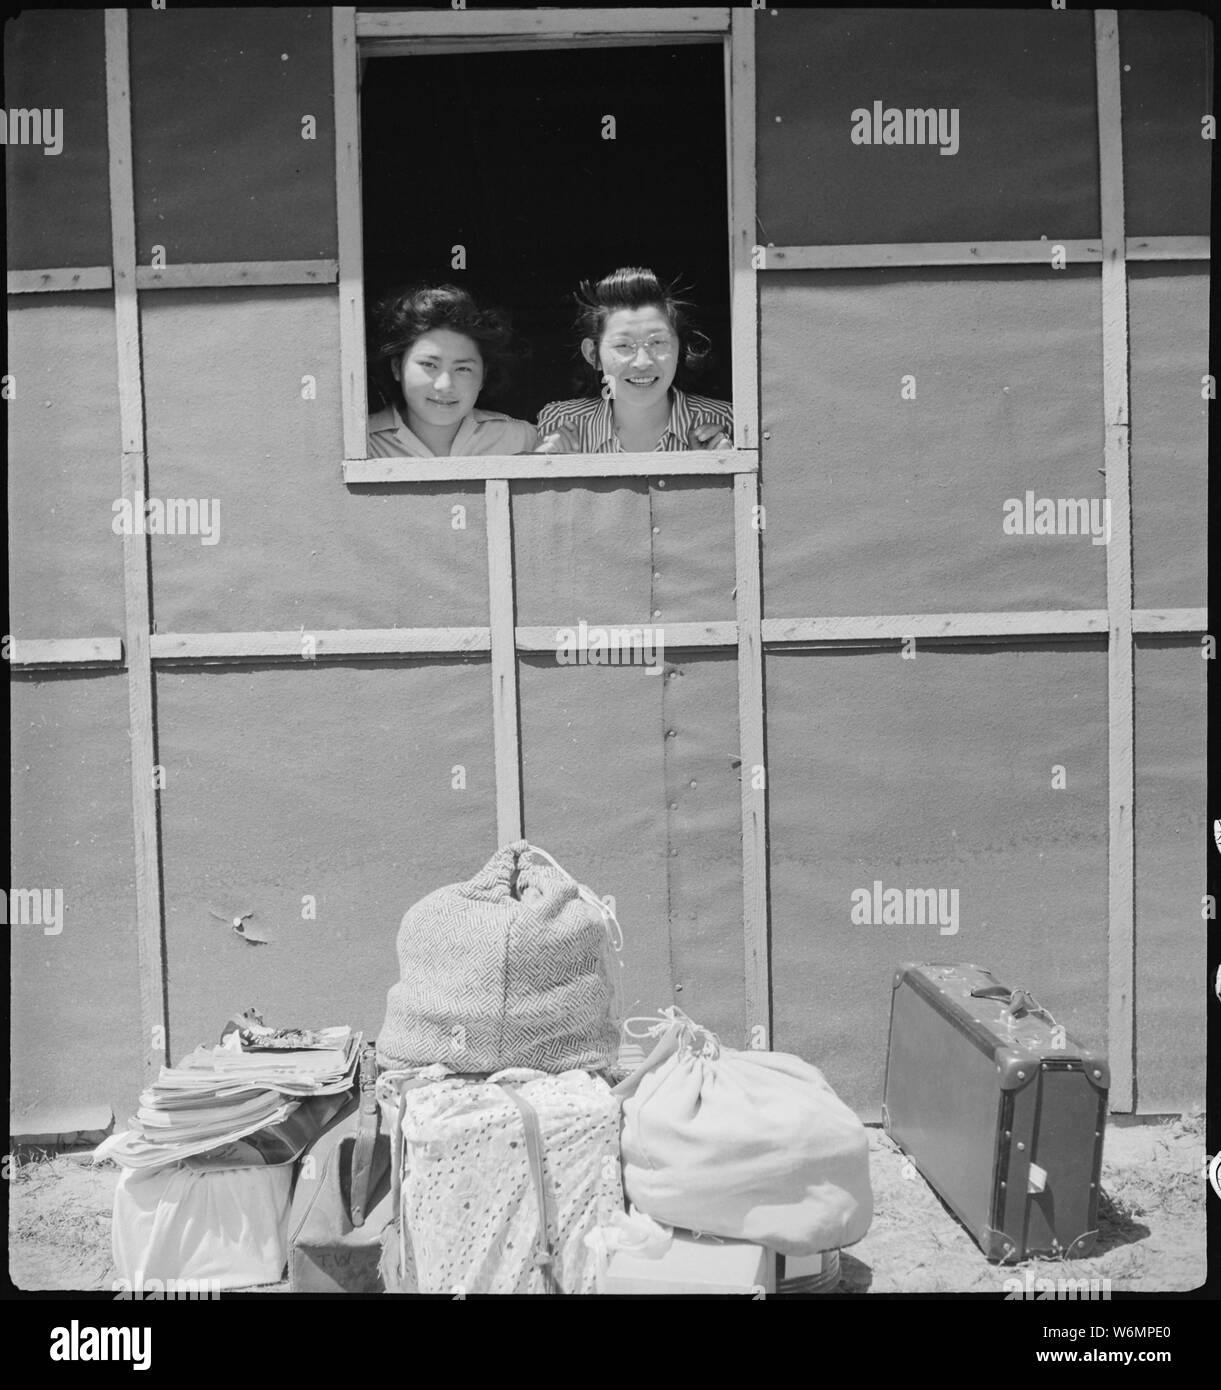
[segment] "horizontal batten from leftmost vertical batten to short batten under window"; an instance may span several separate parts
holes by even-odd
[[[154,662],[248,662],[259,657],[458,656],[490,652],[485,627],[327,628],[295,632],[154,632]]]

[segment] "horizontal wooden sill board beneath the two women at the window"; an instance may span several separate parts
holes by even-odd
[[[487,453],[444,459],[345,459],[343,481],[487,482],[490,478],[665,478],[757,473],[757,449],[681,453]]]

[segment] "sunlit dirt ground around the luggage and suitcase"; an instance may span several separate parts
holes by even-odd
[[[1204,1282],[1204,1119],[1113,1122],[1103,1152],[1100,1240],[1089,1259],[990,1265],[880,1129],[871,1127],[875,1216],[841,1257],[840,1293],[996,1293],[1035,1277],[1108,1279],[1111,1293]],[[8,1272],[18,1289],[110,1290],[110,1215],[118,1169],[88,1155],[14,1166]],[[286,1284],[266,1286],[285,1293]]]

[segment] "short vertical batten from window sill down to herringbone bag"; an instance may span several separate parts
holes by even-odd
[[[509,484],[484,484],[488,517],[488,600],[492,642],[492,751],[496,769],[496,840],[521,838],[521,755],[517,731],[517,651],[513,614],[513,528]]]

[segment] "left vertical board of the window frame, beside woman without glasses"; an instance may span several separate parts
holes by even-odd
[[[364,249],[360,240],[360,83],[356,10],[332,10],[335,63],[335,197],[339,239],[339,371],[343,457],[369,456],[364,377]]]

